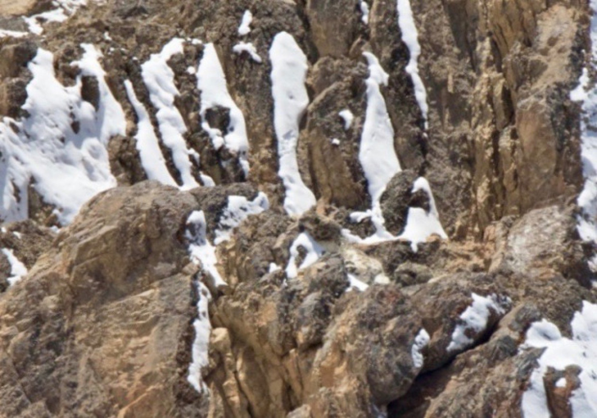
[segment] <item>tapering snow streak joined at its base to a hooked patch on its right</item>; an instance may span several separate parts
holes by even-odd
[[[448,236],[439,221],[439,213],[429,183],[423,177],[416,180],[412,192],[423,190],[429,199],[430,210],[409,208],[407,225],[399,236],[393,236],[384,225],[385,220],[380,203],[381,195],[392,177],[401,171],[401,167],[394,147],[395,133],[392,122],[387,112],[386,101],[381,94],[381,86],[387,85],[389,75],[381,67],[376,56],[372,53],[364,53],[364,56],[369,65],[370,75],[365,81],[367,84],[367,110],[361,134],[359,162],[361,162],[365,179],[367,179],[371,209],[367,212],[355,212],[351,214],[350,218],[353,222],[361,222],[363,219],[370,218],[376,232],[362,239],[350,233],[349,230],[344,230],[344,236],[349,241],[364,244],[407,239],[411,241],[413,251],[417,251],[418,244],[425,242],[431,235],[436,234],[444,239]]]

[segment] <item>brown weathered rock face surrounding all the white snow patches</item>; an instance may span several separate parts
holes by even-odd
[[[110,140],[119,187],[97,195],[59,232],[53,207],[33,185],[30,220],[4,225],[2,248],[29,269],[7,288],[0,254],[0,416],[2,417],[521,417],[521,397],[541,355],[522,350],[530,324],[547,318],[562,333],[583,300],[597,301],[587,261],[593,248],[576,230],[575,198],[583,179],[580,106],[569,99],[589,51],[589,9],[580,0],[411,0],[421,44],[419,69],[429,103],[428,128],[405,71],[395,0],[106,0],[89,2],[44,35],[0,38],[0,114],[21,106],[38,47],[54,53],[57,78],[73,85],[81,43],[103,53],[106,81],[127,118]],[[50,10],[45,1],[0,0],[0,27],[25,30],[22,16]],[[253,12],[259,64],[232,48],[245,10]],[[273,37],[288,32],[307,56],[310,104],[300,121],[298,167],[318,200],[290,217],[282,208],[273,127]],[[106,33],[109,36],[106,36]],[[135,136],[138,120],[125,80],[149,112],[156,109],[141,64],[174,37],[189,39],[168,64],[179,89],[175,105],[184,140],[201,157],[193,174],[216,186],[180,191],[147,182]],[[230,96],[244,113],[250,140],[248,177],[202,130],[196,67],[214,42]],[[380,205],[387,229],[404,231],[409,208],[429,211],[413,182],[426,177],[450,239],[352,244],[342,229],[371,235],[371,207],[359,144],[367,106],[371,51],[389,73],[382,88],[404,169]],[[97,106],[97,81],[84,80]],[[338,112],[355,119],[348,129]],[[216,109],[212,127],[227,129]],[[333,141],[336,140],[336,141]],[[168,147],[167,168],[178,182]],[[0,156],[1,157],[1,156]],[[228,196],[267,194],[270,209],[250,216],[217,247],[227,286],[193,263],[184,236],[203,210],[207,237]],[[17,234],[14,234],[17,232]],[[288,278],[291,245],[307,233],[321,245],[317,262]],[[19,234],[22,236],[19,238]],[[301,248],[296,265],[306,251]],[[353,278],[362,282],[359,290]],[[202,379],[187,382],[196,303],[211,291],[212,331]],[[368,287],[367,287],[368,286]],[[365,287],[367,287],[365,289]],[[464,346],[449,348],[473,294],[498,308]],[[413,354],[421,330],[429,336]],[[418,359],[421,359],[419,361]],[[576,369],[575,369],[576,370]],[[571,416],[572,386],[546,377],[553,416]]]

